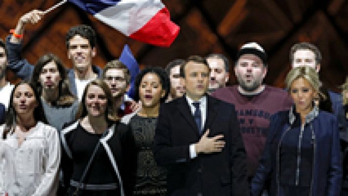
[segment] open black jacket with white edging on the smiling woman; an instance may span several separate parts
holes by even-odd
[[[62,147],[61,168],[63,171],[64,184],[64,187],[60,187],[60,195],[65,195],[67,191],[66,189],[70,187],[70,180],[74,172],[73,168],[75,164],[72,144],[74,141],[79,140],[79,138],[76,137],[75,132],[79,126],[78,121],[75,121],[74,123],[66,124],[65,128],[60,132]],[[134,149],[130,145],[132,142],[132,135],[128,130],[128,126],[123,123],[116,122],[115,127],[110,127],[105,137],[100,138],[99,141],[99,150],[102,148],[105,150],[110,163],[112,162],[111,160],[116,162],[115,166],[121,175],[125,196],[131,196],[135,181],[134,163],[136,162],[134,162],[134,157],[132,157],[134,154]],[[116,174],[117,170],[115,167],[113,168]],[[120,181],[118,183],[119,185],[121,184]]]

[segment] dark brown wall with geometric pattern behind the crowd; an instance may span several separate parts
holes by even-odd
[[[5,38],[17,20],[32,9],[47,9],[58,0],[0,0],[0,37]],[[172,20],[181,27],[170,48],[159,48],[126,38],[72,3],[27,25],[23,57],[35,63],[47,52],[58,55],[67,67],[65,33],[73,25],[86,24],[97,31],[100,67],[117,58],[128,44],[143,66],[162,66],[174,58],[224,53],[233,68],[236,52],[244,43],[260,43],[269,54],[265,82],[283,86],[290,69],[289,49],[300,41],[317,45],[323,53],[321,79],[337,86],[348,75],[348,2],[346,0],[163,0]],[[231,84],[236,82],[231,69]]]

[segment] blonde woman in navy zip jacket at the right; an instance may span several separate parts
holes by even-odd
[[[313,68],[292,69],[286,88],[289,111],[273,115],[264,155],[251,183],[259,196],[270,180],[270,196],[339,196],[342,166],[336,117],[313,104],[321,82]]]

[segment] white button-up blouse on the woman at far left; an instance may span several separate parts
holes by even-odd
[[[4,140],[0,126],[0,195],[55,196],[58,188],[58,132],[38,122],[19,146],[16,134]]]

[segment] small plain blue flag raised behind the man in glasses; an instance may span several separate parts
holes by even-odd
[[[124,48],[122,50],[120,59],[119,59],[129,70],[130,72],[130,88],[127,92],[127,95],[130,98],[134,98],[135,88],[134,88],[134,80],[139,70],[139,64],[137,60],[134,58],[132,51],[129,49],[128,45],[124,45]]]

